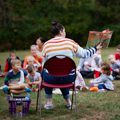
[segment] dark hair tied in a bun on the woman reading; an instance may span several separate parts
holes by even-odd
[[[59,35],[60,31],[62,31],[63,29],[64,26],[59,22],[56,21],[52,22],[51,33],[53,37]]]

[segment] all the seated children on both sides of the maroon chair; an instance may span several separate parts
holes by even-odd
[[[42,45],[41,38],[38,38],[36,45],[30,47],[31,54],[26,56],[23,61],[14,52],[10,52],[5,62],[5,85],[0,89],[3,89],[7,94],[38,91],[38,85],[42,81]],[[91,58],[81,58],[76,69],[76,89],[114,90],[112,80],[120,79],[120,45],[117,46],[114,55],[109,55],[108,60],[109,63],[102,61],[101,50],[98,50]],[[86,85],[84,78],[93,78],[93,80],[90,80],[89,87]]]

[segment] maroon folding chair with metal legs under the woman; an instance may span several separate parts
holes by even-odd
[[[68,76],[71,71],[74,71],[74,74],[76,76],[75,62],[71,58],[63,55],[55,56],[47,60],[43,66],[43,70],[44,69],[46,69],[50,75],[57,76],[57,77]],[[73,81],[75,81],[75,78]],[[48,84],[43,80],[39,86],[39,90],[37,93],[37,103],[36,103],[36,111],[38,111],[38,108],[39,108],[40,115],[41,115],[41,90],[42,88],[45,88],[45,87],[72,89],[73,92],[72,92],[71,110],[73,108],[74,95],[75,95],[75,106],[76,106],[75,82],[68,83],[68,84]],[[76,107],[75,107],[75,111],[76,111]]]

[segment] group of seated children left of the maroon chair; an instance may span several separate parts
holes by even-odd
[[[38,43],[39,41],[39,43]],[[31,54],[22,61],[15,52],[10,52],[5,62],[4,85],[0,87],[6,94],[21,94],[26,92],[26,99],[30,97],[30,92],[38,91],[41,83],[42,60],[39,44],[30,47]],[[2,74],[3,75],[3,74]]]

